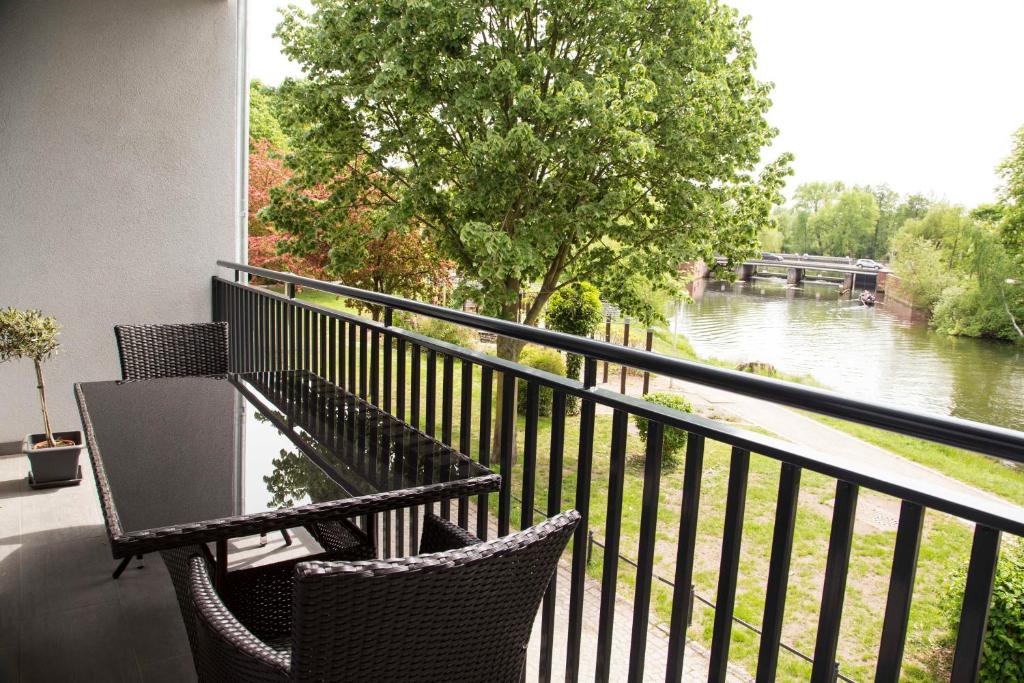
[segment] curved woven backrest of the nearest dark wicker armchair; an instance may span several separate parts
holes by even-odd
[[[579,522],[569,510],[442,553],[297,565],[292,680],[518,683],[541,599]]]

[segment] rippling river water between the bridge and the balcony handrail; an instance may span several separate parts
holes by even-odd
[[[697,354],[761,360],[863,400],[1024,430],[1024,349],[948,337],[835,285],[696,281],[670,324]]]

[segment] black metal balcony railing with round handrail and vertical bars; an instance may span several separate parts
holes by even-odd
[[[591,518],[592,486],[607,492],[607,512],[603,529],[600,612],[597,620],[597,643],[594,676],[608,680],[613,650],[613,620],[616,580],[622,539],[623,478],[626,469],[628,420],[639,416],[649,421],[645,446],[642,500],[635,560],[636,581],[633,594],[633,621],[630,629],[628,675],[642,680],[645,671],[646,643],[651,607],[651,584],[654,568],[655,533],[660,496],[660,465],[665,429],[688,432],[684,461],[682,503],[678,543],[675,549],[675,577],[669,644],[664,672],[667,681],[679,681],[686,653],[686,628],[692,611],[694,550],[697,540],[698,507],[706,440],[731,449],[725,519],[720,549],[715,620],[710,648],[709,680],[725,680],[729,663],[731,629],[736,601],[740,544],[743,535],[746,488],[751,456],[757,454],[780,463],[774,528],[765,582],[765,607],[761,624],[757,659],[757,679],[771,681],[778,666],[783,614],[788,587],[790,560],[794,545],[795,522],[804,470],[817,472],[836,481],[835,504],[828,546],[825,551],[824,585],[817,623],[811,680],[834,681],[839,673],[837,650],[843,615],[847,573],[854,538],[854,519],[861,488],[898,498],[901,501],[896,545],[893,553],[888,598],[882,623],[881,645],[876,677],[895,681],[903,658],[910,601],[918,567],[919,549],[926,509],[955,517],[974,525],[966,595],[952,661],[952,679],[977,678],[985,624],[991,600],[992,581],[1002,532],[1024,536],[1024,509],[997,500],[947,489],[926,480],[910,479],[889,472],[873,471],[851,462],[779,439],[720,423],[696,415],[664,408],[642,398],[598,388],[598,361],[630,367],[655,376],[675,378],[713,386],[775,403],[840,418],[901,434],[1024,462],[1024,434],[979,423],[922,415],[905,410],[867,403],[819,389],[722,370],[681,360],[657,353],[625,348],[598,340],[526,327],[507,321],[411,301],[399,297],[367,292],[331,283],[218,261],[233,270],[233,280],[213,279],[213,314],[226,321],[231,330],[231,357],[234,369],[242,371],[303,368],[346,387],[396,418],[421,427],[443,442],[452,444],[456,407],[456,364],[459,365],[459,431],[457,447],[484,465],[497,465],[502,474],[497,510],[487,496],[475,501],[459,500],[453,505],[455,516],[464,527],[475,514],[475,531],[486,538],[492,523],[499,535],[508,533],[513,520],[513,503],[519,507],[519,524],[534,522],[537,512],[551,515],[563,507],[574,507],[582,524],[572,544],[568,587],[567,629],[555,633],[555,605],[560,591],[555,580],[542,606],[539,678],[553,680],[553,650],[556,639],[564,643],[565,679],[590,678],[581,671],[581,647],[584,634],[584,599],[587,581],[587,548]],[[248,283],[247,275],[284,285],[283,293]],[[295,298],[295,288],[334,294],[380,307],[382,321],[366,319],[346,312],[312,305]],[[446,343],[393,325],[393,314],[404,311],[464,326],[477,332],[503,335],[584,357],[583,381],[566,379],[539,370]],[[425,357],[424,357],[425,356]],[[438,365],[440,387],[438,395]],[[425,366],[425,367],[424,367]],[[425,371],[425,373],[424,373]],[[424,380],[425,374],[425,380]],[[514,378],[516,382],[496,380]],[[524,425],[521,445],[516,442],[516,384],[524,385]],[[500,414],[492,415],[496,404],[496,384],[501,392]],[[548,444],[547,480],[539,477],[538,434],[539,395],[551,390],[550,443]],[[563,500],[563,465],[566,456],[566,415],[568,396],[581,399],[575,445],[575,485],[572,500]],[[477,403],[474,405],[474,400]],[[598,407],[611,411],[611,432],[607,479],[593,481]],[[437,412],[440,411],[439,429]],[[492,454],[492,427],[499,426],[498,453]],[[476,434],[475,443],[473,435]],[[521,461],[515,462],[517,456]],[[496,457],[496,462],[493,460]],[[513,499],[514,474],[521,473],[518,496]],[[538,483],[546,490],[538,490]],[[538,501],[538,496],[545,497]],[[451,518],[450,504],[442,504],[441,514]],[[539,506],[543,506],[539,510]],[[387,549],[385,552],[415,552],[418,512],[413,509],[387,515],[374,528]],[[649,672],[648,672],[649,674]],[[657,678],[662,674],[658,672]]]

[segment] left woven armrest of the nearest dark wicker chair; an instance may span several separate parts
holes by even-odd
[[[189,597],[196,615],[196,669],[200,679],[288,681],[291,655],[264,643],[220,601],[202,557],[189,561]]]

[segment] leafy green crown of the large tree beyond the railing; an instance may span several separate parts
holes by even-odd
[[[325,0],[276,35],[308,75],[282,88],[292,184],[326,191],[306,212],[369,198],[507,319],[529,283],[532,325],[567,279],[752,253],[788,173],[761,160],[746,19],[716,0]]]

